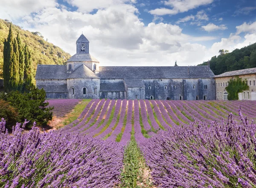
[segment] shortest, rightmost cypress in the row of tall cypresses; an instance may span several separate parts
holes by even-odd
[[[30,85],[32,82],[32,74],[31,74],[31,53],[29,51],[29,48],[27,45],[25,45],[24,48],[24,62],[25,62],[25,67],[24,67],[24,88],[26,86]]]

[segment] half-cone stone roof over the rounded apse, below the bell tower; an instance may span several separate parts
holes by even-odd
[[[99,78],[96,74],[91,71],[87,66],[81,65],[76,70],[70,74],[69,78]]]

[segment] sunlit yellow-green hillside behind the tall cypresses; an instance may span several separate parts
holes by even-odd
[[[0,19],[0,78],[3,78],[3,42],[8,37],[10,22]],[[37,64],[63,65],[71,56],[58,46],[47,42],[39,32],[25,31],[12,24],[15,34],[20,33],[20,38],[31,51],[32,77],[35,77]]]

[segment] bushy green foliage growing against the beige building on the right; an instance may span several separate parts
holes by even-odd
[[[247,85],[246,79],[242,80],[242,78],[237,76],[235,79],[230,79],[228,81],[228,86],[225,89],[228,93],[228,100],[238,100],[238,93],[248,90],[249,86]]]

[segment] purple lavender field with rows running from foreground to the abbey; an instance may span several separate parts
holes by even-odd
[[[255,101],[94,99],[50,133],[2,120],[0,187],[254,188],[255,114]]]

